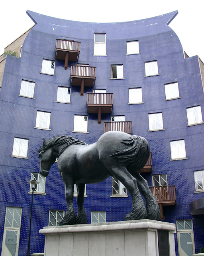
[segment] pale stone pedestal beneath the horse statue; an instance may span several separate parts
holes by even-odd
[[[158,230],[166,230],[167,244],[160,236],[158,245]],[[39,233],[45,235],[45,256],[159,256],[164,247],[175,256],[175,230],[168,222],[132,220],[44,227]]]

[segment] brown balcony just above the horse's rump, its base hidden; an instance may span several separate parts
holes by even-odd
[[[104,133],[108,131],[126,132],[132,134],[131,121],[104,122]]]

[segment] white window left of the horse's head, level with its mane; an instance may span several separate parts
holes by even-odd
[[[14,138],[14,146],[12,156],[19,156],[27,158],[28,140]]]

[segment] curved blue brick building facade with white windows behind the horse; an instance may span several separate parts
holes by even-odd
[[[39,229],[54,225],[66,212],[57,164],[46,180],[39,174],[43,138],[65,134],[91,144],[108,124],[110,130],[122,127],[147,139],[151,171],[144,169],[141,175],[161,204],[164,221],[177,224],[176,254],[200,252],[203,214],[198,209],[190,212],[189,204],[204,195],[204,68],[198,56],[184,58],[179,38],[168,26],[177,12],[120,23],[27,14],[35,26],[24,41],[21,58],[7,55],[0,93],[2,255],[26,255],[31,178],[40,183],[33,199],[30,253],[44,251]],[[55,58],[57,39],[61,48],[71,51],[74,42],[80,42],[78,60],[68,58],[67,69],[65,60]],[[78,67],[75,77],[73,66]],[[83,67],[88,71],[80,96],[81,82],[75,86],[73,81]],[[94,77],[90,67],[96,79],[86,86],[86,76]],[[93,92],[101,93],[100,99],[110,94],[113,100],[112,113],[101,108],[101,120],[100,114],[87,108],[87,95]],[[101,101],[108,103],[107,98]],[[131,197],[110,177],[100,184],[86,184],[84,208],[88,223],[121,221],[131,210]]]

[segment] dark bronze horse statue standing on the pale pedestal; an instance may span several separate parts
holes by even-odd
[[[132,198],[132,210],[125,220],[158,220],[159,206],[147,181],[139,174],[149,158],[149,143],[145,138],[124,132],[104,133],[97,142],[86,144],[72,136],[56,136],[39,149],[40,174],[47,176],[56,158],[65,184],[67,212],[59,225],[86,224],[84,188],[115,176],[126,186]],[[78,214],[73,206],[73,189],[77,185]],[[146,201],[146,208],[140,193]]]

